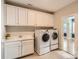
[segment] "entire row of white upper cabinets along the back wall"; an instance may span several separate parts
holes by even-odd
[[[6,25],[53,27],[53,15],[7,5]]]

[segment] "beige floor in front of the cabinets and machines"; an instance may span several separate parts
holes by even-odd
[[[21,59],[74,59],[72,55],[63,51],[52,51],[50,53],[39,56],[37,53],[26,56]]]

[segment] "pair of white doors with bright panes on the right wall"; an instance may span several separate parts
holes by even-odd
[[[77,36],[77,16],[63,17],[61,34],[62,34],[62,49],[72,55],[76,54],[78,40]]]

